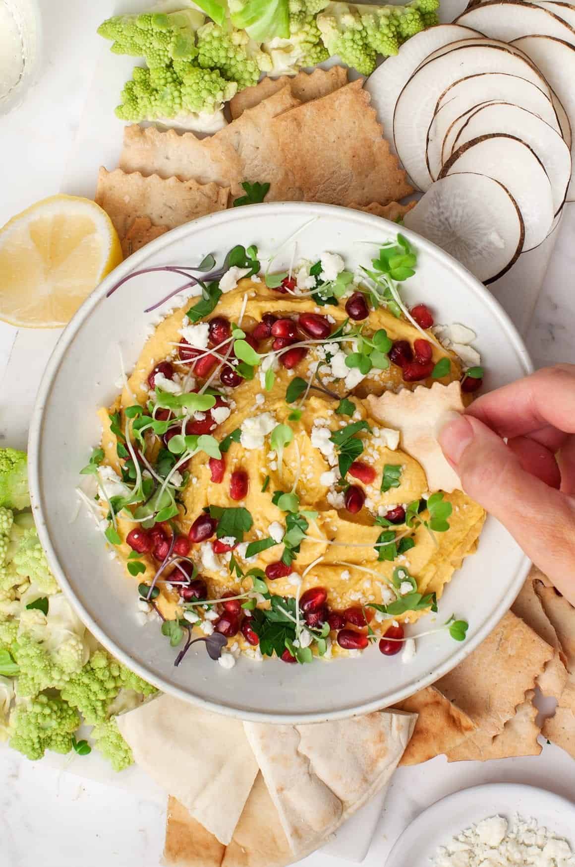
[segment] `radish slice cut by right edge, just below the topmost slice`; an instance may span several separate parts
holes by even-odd
[[[531,57],[565,108],[571,124],[571,155],[575,162],[575,49],[549,36],[523,36],[514,44]],[[567,201],[575,201],[573,178],[567,190]]]

